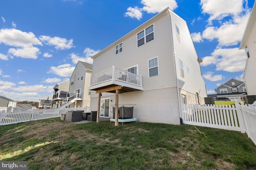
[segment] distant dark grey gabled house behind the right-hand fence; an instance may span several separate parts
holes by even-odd
[[[244,81],[234,78],[230,78],[227,82],[215,88],[215,92],[217,92],[217,97],[230,98],[232,101],[235,99],[245,100],[244,97],[247,95]]]

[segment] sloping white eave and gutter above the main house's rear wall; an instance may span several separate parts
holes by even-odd
[[[112,47],[112,46],[118,44],[119,41],[121,42],[122,39],[125,39],[126,37],[128,37],[128,36],[130,36],[130,35],[133,35],[134,32],[137,33],[138,30],[140,30],[142,26],[148,24],[150,21],[152,21],[152,20],[154,20],[155,18],[159,17],[161,14],[164,14],[165,12],[168,12],[169,9],[170,9],[169,7],[165,8],[164,10],[162,10],[161,12],[159,12],[158,14],[156,14],[154,17],[152,17],[152,18],[150,18],[148,21],[142,23],[140,26],[136,27],[135,29],[133,29],[132,31],[130,31],[129,33],[127,33],[126,35],[124,35],[123,37],[121,37],[120,39],[118,39],[117,41],[115,41],[114,43],[110,44],[108,47],[104,48],[103,50],[101,50],[100,52],[98,52],[97,54],[95,54],[94,56],[92,56],[91,58],[92,58],[92,59],[95,59],[96,57],[98,57],[98,56],[100,56],[102,53],[104,53],[107,49],[109,49],[110,47]],[[175,14],[175,13],[174,13],[174,14]]]

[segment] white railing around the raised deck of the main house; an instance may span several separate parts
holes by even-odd
[[[90,86],[94,86],[96,84],[104,83],[110,80],[142,87],[142,76],[138,76],[137,74],[116,68],[114,65],[108,70],[104,70],[98,74],[92,75]]]

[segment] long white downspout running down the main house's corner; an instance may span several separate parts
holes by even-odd
[[[177,70],[176,70],[177,68],[176,68],[175,51],[174,51],[174,39],[173,39],[173,35],[172,35],[172,23],[171,23],[170,12],[169,12],[169,23],[170,23],[170,31],[171,31],[171,37],[172,37],[172,51],[173,51],[172,53],[173,53],[173,64],[174,64],[176,86],[177,86],[178,106],[179,106],[179,113],[180,113],[180,125],[184,125],[182,117],[181,117],[182,113],[180,110],[180,94],[179,94],[179,87],[178,87],[178,77],[177,77]]]

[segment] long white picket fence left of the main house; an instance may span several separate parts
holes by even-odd
[[[67,111],[84,110],[84,112],[90,112],[90,107],[72,107],[64,109],[30,109],[19,110],[13,112],[0,112],[0,125],[9,125],[14,123],[20,123],[25,121],[33,121],[40,119],[48,119],[54,117],[60,117],[61,114],[66,114]]]

